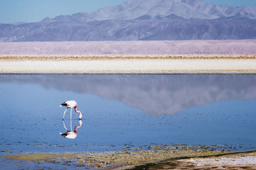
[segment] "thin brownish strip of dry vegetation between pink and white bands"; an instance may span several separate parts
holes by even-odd
[[[255,54],[188,55],[0,55],[0,60],[159,60],[159,59],[256,59]]]

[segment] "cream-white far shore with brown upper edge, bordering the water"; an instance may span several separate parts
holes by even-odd
[[[0,55],[0,73],[256,73],[256,55]]]

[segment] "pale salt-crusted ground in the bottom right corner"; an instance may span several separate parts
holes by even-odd
[[[144,164],[131,169],[254,169],[256,150],[231,152],[220,155],[165,160],[154,164]]]

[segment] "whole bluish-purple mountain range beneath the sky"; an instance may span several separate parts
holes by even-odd
[[[0,24],[0,41],[255,39],[256,8],[202,0],[128,0],[90,13]]]

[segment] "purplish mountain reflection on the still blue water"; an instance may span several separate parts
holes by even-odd
[[[253,74],[1,74],[0,83],[33,83],[95,94],[154,115],[256,97]]]

